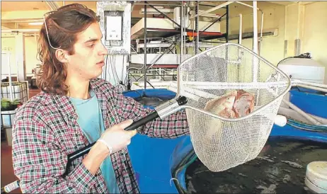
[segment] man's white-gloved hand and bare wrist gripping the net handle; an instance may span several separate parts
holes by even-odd
[[[95,175],[103,160],[105,160],[108,155],[118,152],[130,144],[131,138],[137,134],[137,131],[125,131],[125,128],[130,126],[132,122],[132,120],[125,120],[105,130],[100,137],[105,144],[103,144],[103,142],[96,142],[82,161],[88,171]],[[106,144],[113,148],[112,153],[109,152]]]

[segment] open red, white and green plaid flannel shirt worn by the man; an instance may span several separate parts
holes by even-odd
[[[103,79],[92,79],[90,87],[98,98],[105,128],[153,111],[116,93]],[[157,118],[137,130],[149,137],[189,134],[185,111]],[[41,92],[30,98],[18,108],[13,126],[13,169],[23,193],[108,193],[101,171],[93,176],[82,164],[85,156],[74,160],[64,174],[67,155],[87,144],[69,97]],[[139,193],[127,148],[110,157],[120,193]]]

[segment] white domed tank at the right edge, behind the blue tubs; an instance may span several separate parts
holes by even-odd
[[[314,59],[290,58],[278,64],[278,69],[292,79],[324,84],[325,67]]]

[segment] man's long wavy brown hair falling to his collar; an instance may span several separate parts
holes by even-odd
[[[38,40],[38,57],[42,65],[38,72],[37,84],[42,91],[58,95],[67,94],[68,86],[65,84],[67,70],[65,64],[57,59],[55,52],[60,48],[73,55],[76,36],[86,30],[91,23],[98,21],[96,13],[81,4],[62,6],[45,17],[47,29],[43,23]]]

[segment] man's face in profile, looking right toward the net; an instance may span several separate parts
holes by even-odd
[[[77,35],[74,55],[67,57],[68,76],[90,80],[101,75],[108,51],[101,42],[102,33],[98,23],[92,23]]]

